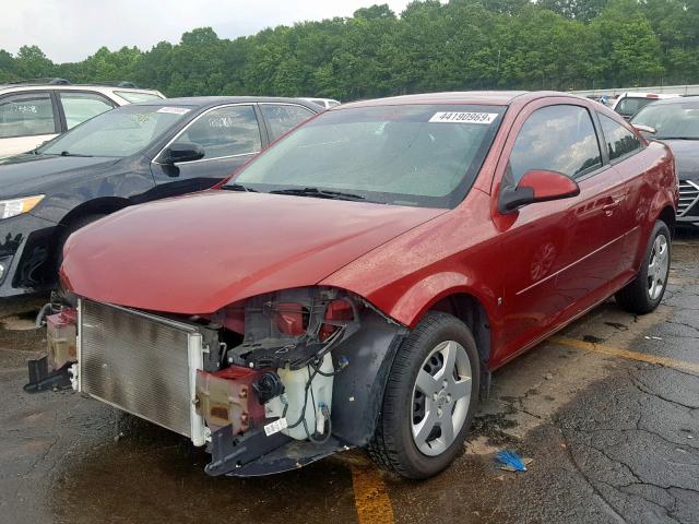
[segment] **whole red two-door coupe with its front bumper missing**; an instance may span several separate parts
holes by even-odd
[[[657,307],[677,198],[667,147],[588,99],[343,105],[220,190],[71,236],[78,349],[49,371],[206,445],[211,475],[362,446],[429,477],[494,369],[612,295]]]

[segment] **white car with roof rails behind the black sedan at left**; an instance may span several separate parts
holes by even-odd
[[[130,82],[72,85],[67,80],[0,85],[0,158],[34,150],[115,107],[165,98]]]

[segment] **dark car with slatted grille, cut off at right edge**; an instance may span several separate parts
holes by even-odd
[[[679,177],[677,223],[699,227],[699,96],[655,102],[631,123],[673,151]]]

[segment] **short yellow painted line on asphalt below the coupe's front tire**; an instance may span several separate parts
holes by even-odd
[[[376,467],[353,465],[352,485],[359,524],[393,524],[391,499]]]

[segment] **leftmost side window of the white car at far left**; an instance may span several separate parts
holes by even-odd
[[[0,99],[0,139],[57,132],[48,93],[25,93]]]

